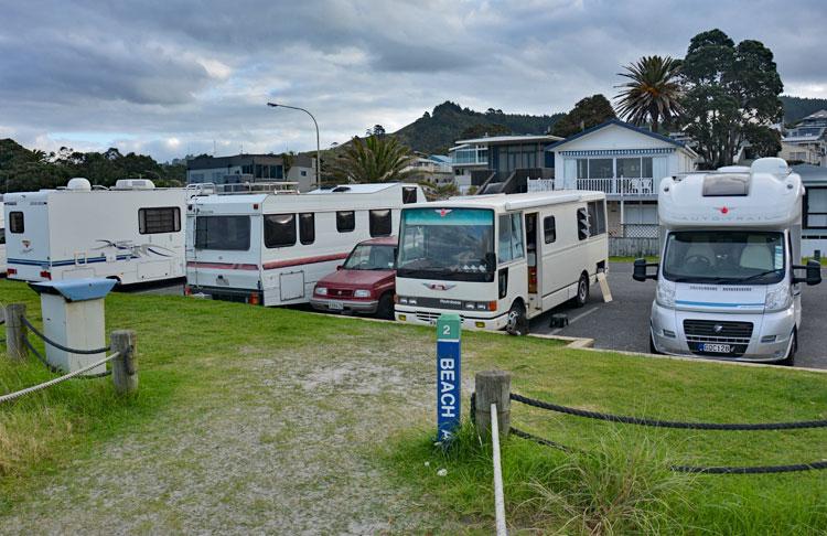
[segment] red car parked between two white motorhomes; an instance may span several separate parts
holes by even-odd
[[[375,314],[394,319],[395,236],[356,244],[336,271],[315,283],[310,304],[320,311]]]

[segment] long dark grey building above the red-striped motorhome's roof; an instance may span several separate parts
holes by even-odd
[[[315,159],[296,154],[286,168],[284,158],[276,154],[196,157],[186,162],[186,183],[296,182],[300,192],[314,187]]]

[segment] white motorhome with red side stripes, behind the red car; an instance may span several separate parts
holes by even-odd
[[[316,281],[356,244],[395,234],[401,206],[423,200],[414,184],[193,197],[185,292],[264,305],[307,303]]]

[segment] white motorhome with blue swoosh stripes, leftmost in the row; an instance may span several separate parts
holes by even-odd
[[[62,190],[6,194],[8,277],[122,285],[182,278],[190,193],[155,189],[146,179],[92,189],[77,178]]]

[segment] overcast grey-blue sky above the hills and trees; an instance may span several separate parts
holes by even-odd
[[[0,138],[149,153],[281,152],[447,99],[566,111],[644,54],[720,28],[775,53],[788,95],[827,98],[827,2],[0,0]]]

